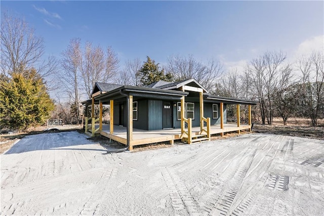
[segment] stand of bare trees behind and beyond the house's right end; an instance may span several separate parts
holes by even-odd
[[[255,117],[263,124],[272,124],[273,117],[281,117],[284,124],[290,117],[324,118],[324,57],[313,52],[286,62],[282,52],[266,52],[247,63],[243,71],[229,71],[219,81],[214,94],[258,101]]]

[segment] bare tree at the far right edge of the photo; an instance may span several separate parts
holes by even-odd
[[[324,56],[322,53],[312,53],[298,61],[302,72],[302,100],[300,109],[311,119],[311,125],[317,126],[317,118],[324,103]],[[321,115],[323,115],[321,113]]]

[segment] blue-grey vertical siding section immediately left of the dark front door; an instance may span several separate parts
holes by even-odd
[[[147,130],[163,129],[163,101],[148,100]]]

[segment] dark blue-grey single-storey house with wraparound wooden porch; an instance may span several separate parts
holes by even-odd
[[[132,150],[133,146],[146,143],[173,143],[176,139],[192,143],[210,140],[211,134],[251,130],[251,105],[256,102],[211,95],[196,80],[188,79],[174,83],[158,81],[147,87],[96,83],[92,99],[83,104],[87,116],[88,107],[92,106],[91,117],[86,118],[86,133],[92,136],[100,133]],[[94,117],[95,104],[100,104],[97,119]],[[110,104],[109,125],[102,124],[103,104]],[[227,124],[227,104],[236,104],[235,125]],[[247,125],[240,124],[240,104],[249,105]]]

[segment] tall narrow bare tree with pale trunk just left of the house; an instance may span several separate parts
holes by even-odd
[[[71,110],[74,114],[75,122],[78,123],[80,110],[79,110],[79,75],[80,67],[82,65],[82,50],[80,39],[75,38],[70,41],[68,47],[62,52],[61,65],[64,72],[61,76],[62,83],[66,88],[67,94],[72,99]]]

